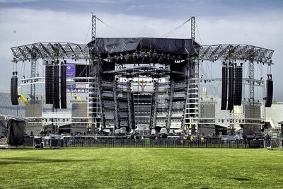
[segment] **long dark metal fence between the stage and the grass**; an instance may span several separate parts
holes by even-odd
[[[93,137],[69,137],[64,139],[42,139],[44,147],[154,147],[154,148],[260,148],[261,140],[205,140],[190,141],[182,139],[95,139]],[[33,147],[33,139],[25,139],[26,147]]]

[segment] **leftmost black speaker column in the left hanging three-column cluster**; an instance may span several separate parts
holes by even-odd
[[[53,103],[52,88],[53,88],[53,65],[46,64],[45,66],[45,98],[47,104]]]

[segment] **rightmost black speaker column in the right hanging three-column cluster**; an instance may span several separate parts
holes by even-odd
[[[233,105],[241,105],[243,90],[243,69],[242,67],[234,67],[234,96]]]

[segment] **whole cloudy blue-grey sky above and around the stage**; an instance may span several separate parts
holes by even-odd
[[[277,0],[0,0],[0,90],[10,88],[11,47],[87,43],[91,13],[112,26],[98,22],[97,37],[160,38],[195,16],[201,45],[234,43],[275,50],[274,99],[283,101],[283,1]],[[190,38],[190,24],[170,38]]]

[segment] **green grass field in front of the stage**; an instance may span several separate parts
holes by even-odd
[[[5,149],[0,188],[283,188],[283,151]]]

